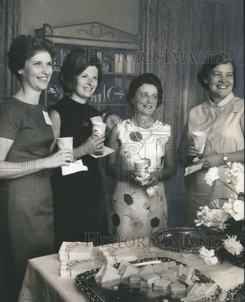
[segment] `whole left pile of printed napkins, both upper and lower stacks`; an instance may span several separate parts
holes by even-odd
[[[93,243],[63,242],[59,250],[60,276],[73,277],[95,268]]]

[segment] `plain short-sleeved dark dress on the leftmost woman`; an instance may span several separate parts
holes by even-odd
[[[41,104],[17,99],[0,103],[0,137],[14,140],[8,162],[22,162],[22,171],[31,171],[35,159],[47,157],[54,141],[52,128],[45,123]],[[26,162],[30,161],[31,165]],[[0,180],[0,280],[1,301],[16,301],[27,260],[55,253],[52,189],[45,171],[19,178]],[[7,290],[7,294],[6,294]]]

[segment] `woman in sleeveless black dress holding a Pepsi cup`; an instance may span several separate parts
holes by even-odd
[[[103,149],[105,140],[104,134],[91,138],[90,118],[101,113],[87,102],[101,81],[97,58],[82,48],[71,50],[59,74],[67,95],[51,107],[50,119],[55,137],[73,137],[75,157],[88,171],[62,176],[59,168],[51,177],[57,252],[63,241],[98,245],[103,243],[101,236],[107,235],[102,177],[96,159],[89,155]]]

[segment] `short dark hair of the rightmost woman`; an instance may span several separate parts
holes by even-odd
[[[214,63],[215,62],[215,63]],[[217,65],[220,64],[227,64],[227,63],[231,63],[232,67],[233,67],[233,79],[234,79],[234,84],[233,84],[233,88],[236,88],[237,85],[237,73],[236,73],[236,65],[233,61],[233,59],[231,59],[229,56],[224,55],[222,57],[220,56],[214,56],[211,59],[208,59],[202,66],[202,69],[198,72],[197,74],[197,80],[198,82],[202,85],[202,87],[207,90],[210,91],[208,84],[204,82],[204,79],[208,78],[208,74],[209,72],[215,68]]]

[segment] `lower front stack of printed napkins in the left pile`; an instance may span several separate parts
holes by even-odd
[[[60,276],[61,277],[74,277],[85,271],[94,269],[94,258],[83,260],[61,261]]]

